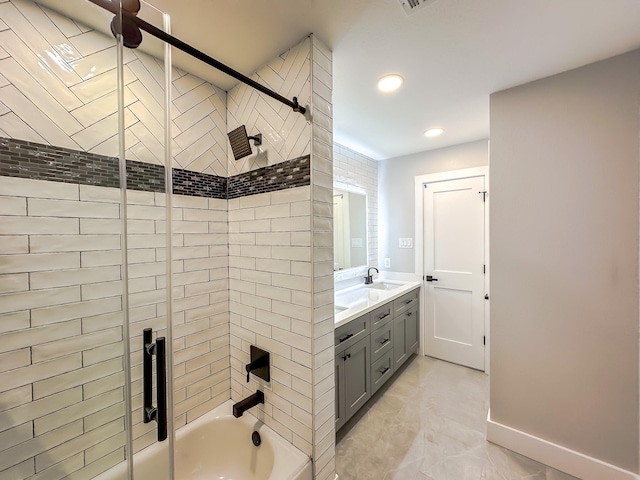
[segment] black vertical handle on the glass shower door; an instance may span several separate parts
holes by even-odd
[[[142,421],[158,423],[158,441],[167,439],[167,364],[166,341],[158,337],[152,342],[153,330],[142,331]],[[156,394],[158,407],[153,406],[153,356],[156,356]]]

